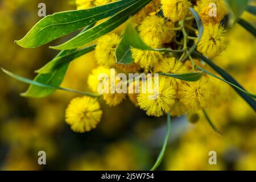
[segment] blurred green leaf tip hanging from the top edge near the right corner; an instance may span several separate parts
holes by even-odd
[[[237,18],[241,16],[243,11],[246,10],[249,0],[226,0],[226,3],[232,11],[232,16],[234,20],[237,20]]]

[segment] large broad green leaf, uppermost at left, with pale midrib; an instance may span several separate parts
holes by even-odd
[[[122,0],[92,9],[64,11],[48,15],[36,23],[27,35],[16,43],[24,48],[42,46],[98,20],[112,16],[135,2],[137,0]]]

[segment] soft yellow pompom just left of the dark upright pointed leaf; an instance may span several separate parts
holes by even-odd
[[[106,68],[113,67],[115,64],[115,48],[118,46],[120,38],[117,34],[109,34],[98,39],[95,48],[97,63]]]

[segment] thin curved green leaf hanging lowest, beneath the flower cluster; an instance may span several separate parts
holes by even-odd
[[[164,152],[166,151],[170,132],[171,132],[171,115],[170,115],[170,113],[168,113],[167,114],[166,137],[164,138],[164,143],[163,143],[162,149],[158,155],[158,159],[156,159],[156,162],[155,162],[154,166],[151,168],[151,171],[155,171],[155,169],[158,168],[158,166],[160,165],[160,163],[162,162],[162,160],[164,158]]]

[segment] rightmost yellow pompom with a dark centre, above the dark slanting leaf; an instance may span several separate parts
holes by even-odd
[[[229,44],[226,31],[220,24],[209,23],[204,26],[203,36],[197,46],[197,50],[204,56],[214,58],[220,55]]]

